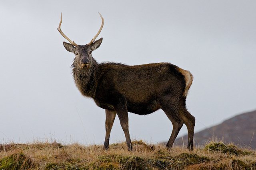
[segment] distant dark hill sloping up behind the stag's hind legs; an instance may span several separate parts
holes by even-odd
[[[223,139],[224,143],[234,143],[240,147],[256,149],[256,110],[236,115],[219,125],[204,129],[194,134],[194,145],[204,145],[211,139]],[[187,145],[188,135],[183,136]],[[174,145],[183,145],[182,137]]]

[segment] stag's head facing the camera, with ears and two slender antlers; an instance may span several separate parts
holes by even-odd
[[[104,25],[104,19],[102,18],[101,14],[100,14],[100,18],[102,19],[102,24],[100,26],[98,33],[94,36],[94,38],[86,45],[77,45],[74,41],[71,41],[60,29],[60,25],[62,23],[62,13],[61,13],[58,31],[65,39],[67,39],[70,42],[70,43],[63,42],[63,45],[67,51],[75,54],[76,57],[74,60],[74,64],[76,66],[79,66],[81,68],[88,68],[90,66],[90,63],[92,63],[92,60],[93,60],[92,51],[100,47],[100,44],[102,43],[102,38],[95,41],[95,39],[100,34],[100,31],[102,30],[102,27]]]

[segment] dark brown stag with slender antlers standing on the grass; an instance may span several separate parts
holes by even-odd
[[[100,13],[99,13],[100,14]],[[171,148],[183,123],[188,129],[188,149],[193,149],[195,117],[186,109],[186,97],[193,82],[192,74],[171,63],[151,63],[128,66],[120,63],[97,63],[92,51],[100,47],[102,38],[96,36],[86,45],[77,45],[60,29],[70,43],[63,42],[67,51],[74,53],[72,64],[74,81],[83,96],[92,98],[106,112],[104,149],[108,149],[110,131],[116,114],[125,134],[128,150],[132,143],[128,129],[128,112],[148,115],[162,109],[173,125],[167,148]]]

